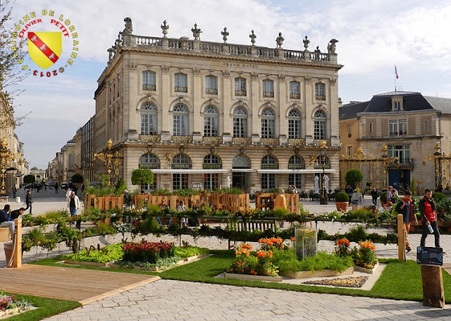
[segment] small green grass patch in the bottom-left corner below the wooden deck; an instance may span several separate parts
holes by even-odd
[[[16,293],[5,293],[7,295],[13,295]],[[24,296],[22,294],[16,294],[18,300],[28,301],[31,305],[37,307],[34,310],[28,310],[18,315],[12,315],[6,320],[8,321],[36,321],[42,320],[45,317],[51,317],[63,313],[67,310],[78,308],[81,304],[75,301],[56,300],[55,298],[42,298],[40,296]]]

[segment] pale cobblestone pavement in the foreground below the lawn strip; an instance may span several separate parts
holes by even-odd
[[[55,315],[52,321],[450,320],[451,308],[245,286],[159,280]]]

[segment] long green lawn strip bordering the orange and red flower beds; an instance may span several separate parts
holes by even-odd
[[[124,272],[134,274],[154,274],[162,279],[173,279],[180,281],[194,281],[211,284],[228,284],[232,286],[252,286],[266,289],[282,289],[288,291],[302,291],[311,293],[333,293],[346,296],[364,296],[371,298],[390,298],[395,300],[422,301],[423,289],[421,285],[421,268],[416,262],[409,260],[400,262],[398,260],[381,260],[388,263],[383,270],[381,277],[376,281],[373,289],[364,291],[359,289],[333,288],[326,286],[307,286],[303,284],[283,284],[278,282],[251,281],[238,279],[223,279],[216,277],[225,272],[232,265],[235,253],[227,250],[211,250],[213,256],[191,262],[187,265],[173,267],[163,272],[147,272],[132,269],[112,269],[105,267],[89,267],[65,265],[70,268],[99,269],[111,272]],[[58,258],[47,259],[35,262],[40,265],[57,264]],[[451,303],[451,276],[443,271],[443,286],[445,289],[445,302]]]

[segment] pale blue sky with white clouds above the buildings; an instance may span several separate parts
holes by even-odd
[[[16,116],[31,112],[16,128],[30,167],[47,168],[55,153],[94,115],[94,91],[108,60],[106,50],[123,30],[125,17],[132,18],[134,35],[162,37],[160,26],[167,20],[168,37],[173,38],[192,39],[194,23],[202,30],[201,40],[211,42],[222,42],[224,27],[230,33],[228,43],[251,44],[249,33],[254,30],[256,45],[272,48],[278,32],[285,38],[285,49],[303,50],[307,35],[311,51],[319,46],[327,52],[329,40],[335,38],[338,63],[344,65],[338,72],[338,96],[344,104],[369,100],[393,91],[395,85],[399,90],[451,98],[451,49],[445,42],[451,1],[16,0],[11,22],[42,10],[70,19],[80,43],[77,58],[63,73],[49,78],[29,75],[18,85],[23,93],[13,102]],[[38,68],[28,62],[30,69]]]

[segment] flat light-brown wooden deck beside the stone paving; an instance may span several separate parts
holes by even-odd
[[[11,293],[91,303],[159,280],[144,274],[22,265],[0,269],[0,289]]]

